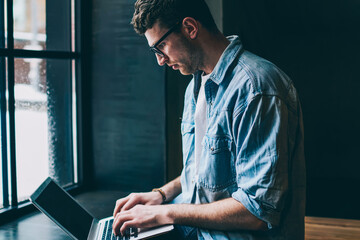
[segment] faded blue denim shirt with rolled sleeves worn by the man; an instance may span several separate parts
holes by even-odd
[[[268,225],[266,231],[199,229],[199,239],[304,239],[305,160],[297,92],[278,67],[245,51],[237,36],[228,39],[205,84],[208,127],[198,165],[194,116],[201,72],[185,93],[179,199],[201,204],[233,198]]]

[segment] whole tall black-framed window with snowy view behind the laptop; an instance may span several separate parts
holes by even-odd
[[[78,0],[0,0],[0,209],[78,182]]]

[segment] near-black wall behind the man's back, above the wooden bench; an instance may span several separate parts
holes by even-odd
[[[307,215],[360,219],[360,2],[224,1],[224,32],[280,66],[305,125]]]

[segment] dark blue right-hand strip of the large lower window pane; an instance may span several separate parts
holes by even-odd
[[[49,174],[61,185],[74,183],[71,60],[48,59]]]

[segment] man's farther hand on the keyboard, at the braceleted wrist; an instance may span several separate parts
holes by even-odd
[[[129,210],[138,204],[159,205],[162,201],[162,196],[158,192],[131,193],[116,201],[113,216],[115,218],[117,213]]]

